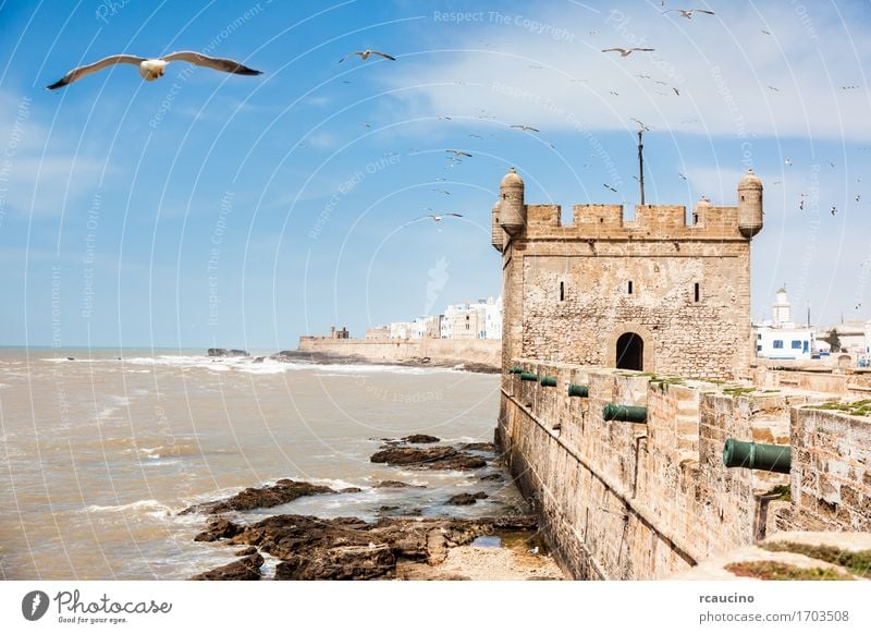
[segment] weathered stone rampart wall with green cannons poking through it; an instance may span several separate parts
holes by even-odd
[[[790,479],[725,467],[726,438],[787,443],[790,411],[802,420],[819,416],[795,407],[805,403],[803,395],[761,390],[729,395],[713,383],[682,385],[637,373],[528,359],[513,365],[557,379],[555,388],[545,388],[519,375],[506,378],[496,438],[557,560],[576,578],[664,578],[756,541],[766,525],[763,495]],[[567,397],[569,382],[589,386],[589,398]],[[647,424],[605,422],[608,402],[647,405]],[[848,425],[849,417],[825,416],[827,425]],[[871,434],[871,425],[863,424],[863,434]],[[838,453],[827,451],[854,455],[858,464],[841,468],[836,483],[820,476],[815,481],[824,485],[818,489],[807,484],[798,505],[786,505],[799,512],[778,514],[778,527],[814,529],[819,524],[810,509],[819,509],[820,491],[830,486],[839,486],[843,504],[851,505],[826,526],[867,526],[871,438],[846,431],[841,430],[848,440]],[[796,434],[793,423],[794,455],[819,438]],[[798,460],[807,462],[805,455]]]

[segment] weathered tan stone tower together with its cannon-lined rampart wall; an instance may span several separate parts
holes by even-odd
[[[750,172],[737,194],[736,207],[702,199],[690,223],[678,206],[639,206],[626,221],[621,206],[579,205],[562,227],[559,207],[526,205],[514,170],[502,180],[496,441],[576,578],[672,576],[769,528],[871,529],[868,418],[808,409],[832,397],[805,386],[819,377],[722,381],[753,374],[762,183]],[[826,382],[841,394],[871,389]],[[569,397],[569,383],[588,395]],[[605,420],[606,403],[646,406],[647,420]],[[727,438],[790,444],[790,474],[725,467]],[[792,501],[768,495],[785,484]]]

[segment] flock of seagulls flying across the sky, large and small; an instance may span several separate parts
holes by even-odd
[[[663,0],[662,4],[665,5],[664,0]],[[687,20],[691,20],[692,16],[695,14],[697,14],[697,13],[707,14],[707,15],[714,15],[715,14],[713,11],[710,11],[710,10],[707,10],[707,9],[668,9],[666,11],[662,11],[662,13],[663,14],[666,14],[666,13],[679,13],[680,17],[685,17]],[[762,29],[762,33],[765,34],[765,35],[771,35],[771,32],[769,32],[766,29]],[[634,48],[628,48],[628,49],[614,47],[614,48],[601,49],[601,52],[605,52],[605,53],[606,52],[616,52],[616,53],[619,53],[619,56],[623,57],[623,58],[626,58],[626,57],[630,56],[634,52],[653,52],[653,51],[655,51],[655,49],[646,48],[646,47],[634,47]],[[360,60],[368,60],[369,58],[381,58],[381,59],[389,60],[389,61],[396,61],[395,57],[393,57],[391,54],[388,54],[385,52],[382,52],[382,51],[379,51],[379,50],[366,49],[366,50],[353,51],[353,52],[347,53],[346,56],[342,57],[342,59],[339,60],[339,63],[342,63],[345,60],[347,60],[349,58],[354,58],[354,57],[358,57],[358,58],[360,58]],[[60,80],[54,82],[53,84],[50,84],[49,86],[47,86],[47,89],[56,90],[56,89],[61,88],[63,86],[68,86],[70,84],[74,83],[74,82],[77,82],[78,80],[82,80],[83,77],[86,77],[86,76],[88,76],[88,75],[90,75],[93,73],[96,73],[98,71],[101,71],[103,69],[107,69],[109,66],[113,66],[113,65],[116,65],[116,64],[136,65],[136,66],[138,66],[139,75],[142,75],[143,80],[145,80],[146,82],[152,82],[155,80],[158,80],[158,78],[162,77],[164,72],[165,72],[167,65],[170,62],[174,62],[174,61],[184,61],[184,62],[188,62],[191,64],[197,65],[197,66],[204,66],[204,68],[212,69],[212,70],[216,70],[216,71],[221,71],[221,72],[224,72],[224,73],[232,73],[232,74],[236,74],[236,75],[260,75],[260,74],[262,74],[261,71],[257,71],[257,70],[250,69],[250,68],[248,68],[248,66],[246,66],[246,65],[244,65],[241,62],[237,62],[235,60],[210,57],[210,56],[206,56],[206,54],[203,54],[203,53],[199,53],[199,52],[196,52],[196,51],[179,51],[179,52],[173,52],[173,53],[160,57],[160,58],[142,58],[142,57],[132,56],[132,54],[116,54],[116,56],[110,56],[110,57],[103,58],[103,59],[101,59],[101,60],[99,60],[97,62],[94,62],[91,64],[87,64],[87,65],[75,68],[75,69],[71,70],[69,73],[66,73],[63,77],[61,77]],[[646,75],[646,74],[639,74],[638,76],[641,77],[641,78],[652,78],[650,75]],[[665,85],[665,82],[657,81],[655,83]],[[841,89],[842,90],[851,90],[851,89],[856,89],[859,86],[857,86],[857,85],[846,85],[846,86],[841,86]],[[780,92],[775,86],[768,86],[768,88],[773,90],[773,92]],[[679,92],[678,88],[672,87],[672,90],[678,97],[680,96],[680,92]],[[611,90],[611,94],[612,95],[617,95],[617,93],[615,93],[614,90]],[[451,117],[440,115],[439,119],[450,120]],[[645,123],[642,123],[640,120],[638,120],[636,118],[631,118],[631,121],[634,121],[634,122],[636,122],[638,124],[639,132],[648,132],[648,131],[651,130],[650,126],[646,125]],[[368,123],[364,123],[364,125],[366,127],[369,127]],[[540,132],[540,130],[538,127],[535,127],[532,125],[526,125],[526,124],[515,124],[515,125],[511,125],[510,127],[516,129],[516,130],[520,130],[522,132],[531,132],[531,133]],[[470,134],[469,136],[470,137],[481,138],[480,135],[476,135],[476,134]],[[549,144],[549,145],[551,147],[554,147],[553,144]],[[450,155],[450,158],[451,158],[451,161],[452,161],[450,167],[453,167],[456,162],[459,162],[462,160],[462,158],[471,158],[471,156],[473,156],[468,151],[459,150],[459,149],[449,149],[449,150],[446,150],[446,153],[447,153],[447,155]],[[792,159],[787,158],[785,160],[785,164],[787,167],[792,166],[793,164]],[[834,167],[834,163],[830,163],[830,164],[832,164],[832,167]],[[589,163],[585,163],[584,167],[589,167]],[[678,176],[682,180],[685,180],[685,181],[687,180],[687,176],[685,174],[683,174],[683,173],[678,172]],[[635,179],[638,180],[637,176],[635,176]],[[438,179],[438,180],[444,180],[444,179]],[[780,182],[781,181],[776,181],[774,184],[776,185]],[[610,190],[611,192],[615,192],[615,193],[617,192],[617,190],[615,187],[613,187],[612,185],[609,185],[608,183],[604,184],[604,187],[606,190]],[[447,190],[433,190],[433,191],[442,193],[442,194],[445,194],[445,195],[450,195],[451,194],[451,192],[449,192]],[[801,194],[800,196],[801,197],[800,197],[800,202],[799,202],[799,210],[805,210],[805,197],[806,197],[806,195]],[[856,196],[856,202],[859,202],[860,198],[861,198],[861,195],[857,195]],[[832,208],[831,208],[830,211],[834,216],[837,212],[836,206],[832,205]],[[428,214],[428,215],[421,216],[419,218],[416,218],[412,222],[406,223],[406,225],[407,224],[412,224],[414,222],[421,221],[421,220],[431,220],[431,221],[433,221],[436,223],[439,223],[442,220],[444,220],[445,218],[463,218],[463,215],[462,214],[455,214],[455,212],[450,212],[450,214]]]

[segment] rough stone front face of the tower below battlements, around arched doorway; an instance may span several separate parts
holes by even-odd
[[[645,346],[655,351],[655,366],[645,369],[714,378],[746,367],[751,343],[744,317],[750,309],[746,244],[733,251],[721,246],[711,257],[683,254],[671,243],[645,246],[646,257],[627,257],[616,245],[571,256],[561,244],[533,245],[523,257],[520,279],[506,290],[522,296],[515,350],[525,357],[613,365],[616,337],[637,325]],[[645,247],[626,248],[638,256]]]

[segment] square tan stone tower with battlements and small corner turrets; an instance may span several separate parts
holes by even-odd
[[[527,205],[514,168],[492,210],[502,253],[503,370],[512,359],[734,378],[753,355],[750,240],[762,182],[749,170],[737,207]]]

